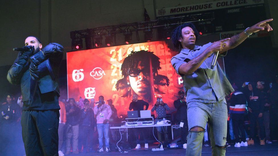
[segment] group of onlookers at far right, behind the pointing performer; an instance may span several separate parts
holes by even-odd
[[[230,143],[235,147],[254,145],[254,140],[260,145],[277,141],[278,76],[275,81],[269,90],[263,81],[244,82],[241,87],[232,85],[235,91],[226,99]]]

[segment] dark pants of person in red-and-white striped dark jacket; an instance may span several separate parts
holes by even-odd
[[[233,131],[236,138],[236,143],[241,141],[246,141],[245,131],[244,131],[244,114],[232,114]],[[239,130],[241,132],[241,137],[239,138]]]

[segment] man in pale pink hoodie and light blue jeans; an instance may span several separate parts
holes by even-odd
[[[99,149],[97,152],[103,152],[103,135],[105,138],[105,151],[110,152],[109,147],[109,119],[112,115],[111,107],[104,103],[104,97],[99,96],[99,104],[94,107],[94,113],[97,118],[97,132],[99,134]]]

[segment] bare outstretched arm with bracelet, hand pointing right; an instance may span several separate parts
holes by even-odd
[[[247,34],[245,34],[244,32],[241,32],[241,33],[231,37],[230,40],[226,41],[226,46],[223,47],[223,49],[219,53],[223,53],[223,52],[225,52],[229,49],[232,49],[232,48],[240,45],[240,43],[242,43],[246,38],[248,38],[248,34],[252,34],[254,32],[262,31],[262,30],[265,30],[265,29],[267,29],[268,32],[272,31],[273,29],[267,23],[267,22],[270,22],[272,20],[273,19],[268,19],[268,20],[264,20],[264,21],[261,21],[261,22],[255,24],[254,26],[252,26],[252,27],[250,27],[246,30]]]

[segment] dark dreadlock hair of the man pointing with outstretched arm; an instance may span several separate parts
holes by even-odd
[[[175,28],[172,31],[172,42],[173,42],[173,45],[176,49],[182,49],[183,48],[179,39],[183,40],[181,30],[183,28],[187,27],[187,26],[193,29],[194,34],[196,36],[196,42],[199,39],[199,32],[196,29],[195,25],[193,23],[184,23],[184,24],[178,26],[177,28]]]

